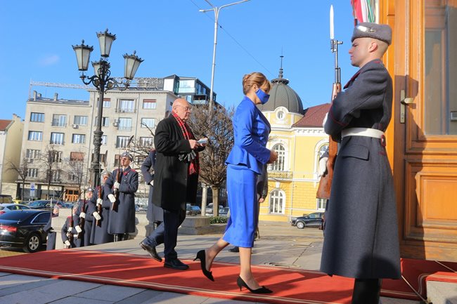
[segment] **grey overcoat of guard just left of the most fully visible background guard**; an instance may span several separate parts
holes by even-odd
[[[101,190],[101,193],[100,193]],[[92,223],[92,230],[91,230],[91,243],[92,244],[105,244],[114,241],[114,236],[108,233],[108,223],[110,220],[110,207],[111,201],[105,195],[102,187],[97,187],[96,191],[94,192],[94,199],[95,204],[97,204],[97,199],[100,197],[103,202],[101,204],[101,212],[98,214],[101,216],[101,220],[99,221],[99,225],[97,225],[97,220],[94,219]]]

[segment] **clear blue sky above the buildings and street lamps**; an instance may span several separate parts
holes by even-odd
[[[236,0],[210,0],[222,6]],[[335,11],[335,38],[344,41],[339,61],[342,83],[356,72],[347,51],[354,21],[349,0],[250,0],[219,14],[214,91],[224,105],[243,97],[243,74],[259,71],[284,78],[304,108],[330,102],[334,56],[330,51],[329,10]],[[144,59],[137,77],[171,74],[197,77],[210,86],[214,13],[204,0],[2,1],[0,8],[0,119],[25,118],[30,80],[82,84],[72,45],[94,46],[96,32],[116,34],[110,53],[111,74],[123,76],[124,53]],[[34,86],[44,97],[88,100],[84,90]]]

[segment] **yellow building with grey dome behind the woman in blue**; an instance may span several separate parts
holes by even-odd
[[[271,124],[267,147],[278,152],[278,160],[268,166],[269,194],[260,205],[259,219],[285,222],[325,209],[326,201],[316,199],[317,168],[328,146],[322,121],[330,104],[303,110],[282,69],[271,83],[269,102],[259,109]]]

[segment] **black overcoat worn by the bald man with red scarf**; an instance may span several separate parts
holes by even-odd
[[[186,203],[195,204],[197,199],[198,173],[189,176],[189,164],[179,160],[179,154],[191,152],[191,145],[184,139],[183,132],[173,115],[169,115],[157,124],[154,145],[157,157],[153,203],[170,211],[185,210]],[[200,147],[198,151],[203,149],[204,147]]]

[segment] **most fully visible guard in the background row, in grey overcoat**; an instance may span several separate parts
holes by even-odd
[[[120,168],[112,171],[103,190],[111,202],[108,233],[114,235],[114,241],[129,239],[129,233],[135,232],[135,192],[138,190],[138,172],[130,168],[133,160],[129,152],[120,157]]]

